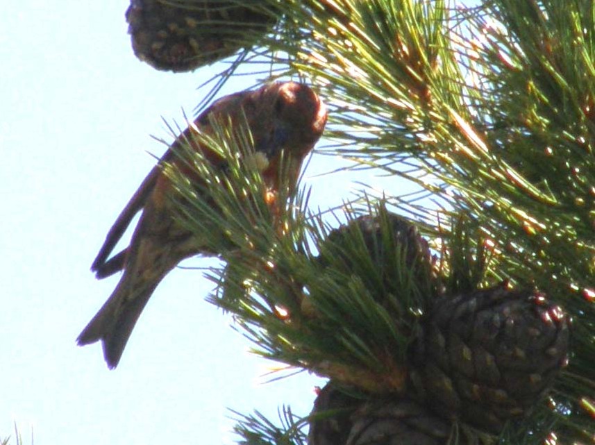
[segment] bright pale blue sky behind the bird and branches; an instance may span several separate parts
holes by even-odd
[[[305,373],[265,384],[274,363],[247,352],[195,270],[161,283],[115,371],[99,344],[76,346],[119,279],[95,280],[90,264],[153,166],[147,152],[165,151],[149,135],[171,140],[161,117],[192,115],[196,87],[221,69],[169,74],[138,61],[127,6],[7,1],[0,15],[0,438],[11,444],[14,422],[25,444],[31,428],[35,444],[229,444],[227,408],[307,414],[324,384]],[[317,176],[335,167],[313,157],[312,204],[340,203],[362,179]]]

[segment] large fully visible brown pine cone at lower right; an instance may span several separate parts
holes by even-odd
[[[412,347],[412,383],[446,419],[498,434],[530,412],[567,361],[557,306],[505,286],[440,299]]]

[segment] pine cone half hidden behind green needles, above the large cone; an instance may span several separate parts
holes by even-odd
[[[411,295],[403,295],[403,289],[413,289],[417,303],[439,293],[428,242],[414,225],[386,210],[381,209],[378,216],[358,217],[332,230],[319,250],[323,267],[332,266],[346,275],[360,276],[366,287],[378,294],[379,301],[391,294],[392,301],[406,306],[405,300]],[[362,260],[362,251],[369,253],[371,262]],[[371,273],[372,270],[379,274]],[[382,303],[395,319],[401,319],[403,308],[395,307],[389,300]]]

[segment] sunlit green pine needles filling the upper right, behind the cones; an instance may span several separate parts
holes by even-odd
[[[569,371],[589,379],[592,4],[493,1],[456,13],[465,31],[451,29],[439,2],[305,3],[303,16],[287,7],[302,40],[299,51],[284,49],[290,72],[315,79],[334,106],[332,151],[441,194],[452,208],[446,215],[480,235],[471,254],[491,251],[488,273],[467,285],[512,278],[547,290],[574,315]],[[455,227],[442,228],[452,254]],[[564,394],[560,403],[580,406],[578,388]]]

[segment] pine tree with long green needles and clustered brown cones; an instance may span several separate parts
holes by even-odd
[[[169,172],[180,221],[220,228],[210,301],[330,380],[310,415],[238,413],[239,443],[595,443],[594,3],[257,3],[271,28],[234,37],[212,93],[248,63],[310,83],[326,154],[419,192],[362,186],[342,228],[303,187],[271,215],[224,126],[224,178],[186,154],[225,217]]]

